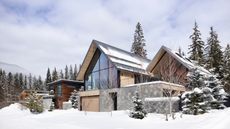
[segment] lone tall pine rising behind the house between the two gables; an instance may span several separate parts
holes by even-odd
[[[131,52],[146,58],[147,51],[144,49],[144,47],[145,47],[144,33],[141,24],[138,22],[134,33],[134,41],[132,44]]]

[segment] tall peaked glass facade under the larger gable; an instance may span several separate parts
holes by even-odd
[[[85,74],[86,90],[117,88],[117,72],[106,55],[97,50]]]

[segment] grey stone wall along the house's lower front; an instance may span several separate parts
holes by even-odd
[[[184,91],[184,87],[176,84],[155,82],[130,85],[122,88],[100,90],[100,111],[114,110],[114,96],[116,93],[117,110],[131,110],[133,108],[132,97],[138,92],[148,112],[165,113],[168,109],[168,101],[145,102],[145,98],[163,97],[163,88],[170,88]],[[178,102],[173,102],[173,110],[178,111]]]

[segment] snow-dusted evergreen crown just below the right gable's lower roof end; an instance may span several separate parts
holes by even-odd
[[[192,69],[188,75],[188,88],[194,89],[196,87],[202,88],[205,86],[204,77],[203,75],[198,71],[197,68]]]

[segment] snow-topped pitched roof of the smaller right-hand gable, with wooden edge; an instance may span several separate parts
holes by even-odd
[[[162,46],[160,48],[160,50],[157,52],[157,54],[154,56],[154,58],[152,59],[151,63],[148,65],[147,67],[147,71],[152,72],[153,69],[155,68],[155,66],[157,65],[157,62],[161,59],[161,57],[165,54],[168,53],[169,55],[171,55],[173,58],[175,58],[178,62],[180,62],[183,66],[185,66],[188,70],[192,70],[195,67],[198,68],[198,70],[201,72],[201,74],[211,74],[208,70],[206,70],[205,68],[195,65],[195,63],[186,58],[181,56],[180,54],[178,54],[175,51],[172,51],[170,48],[167,48],[165,46]]]

